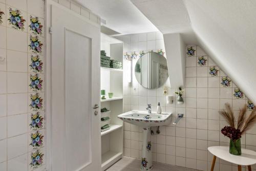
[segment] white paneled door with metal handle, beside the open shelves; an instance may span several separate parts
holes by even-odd
[[[51,6],[52,171],[101,170],[100,29]]]

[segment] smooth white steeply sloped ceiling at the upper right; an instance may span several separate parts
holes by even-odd
[[[200,45],[256,103],[256,1],[185,0]]]

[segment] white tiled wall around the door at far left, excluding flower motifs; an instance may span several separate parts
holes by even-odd
[[[100,18],[70,0],[55,0],[55,2],[87,17],[94,23],[100,23]],[[26,20],[24,30],[14,29],[9,24],[9,7],[18,9]],[[29,171],[44,170],[45,168],[45,1],[44,0],[0,0],[0,170]],[[29,48],[30,35],[35,35],[29,28],[30,15],[38,17],[42,24],[42,34],[38,35],[42,52],[35,54]],[[43,65],[38,73],[42,80],[42,89],[33,90],[29,87],[31,55],[39,55]],[[4,60],[2,61],[2,59]],[[33,110],[30,107],[30,95],[39,93],[42,99],[42,109]],[[42,126],[40,129],[31,128],[31,114],[40,112]],[[39,131],[42,145],[33,147],[31,134]],[[36,150],[42,153],[42,164],[32,167],[31,156]]]

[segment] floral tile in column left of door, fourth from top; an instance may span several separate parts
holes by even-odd
[[[29,92],[43,92],[45,90],[45,75],[44,74],[29,74],[28,75]]]

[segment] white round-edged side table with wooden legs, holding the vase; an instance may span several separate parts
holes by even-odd
[[[241,166],[248,166],[248,170],[251,171],[251,165],[256,163],[256,152],[250,149],[242,148],[242,155],[236,156],[229,153],[229,146],[211,146],[208,147],[208,151],[214,155],[211,163],[211,171],[214,170],[216,157],[225,160],[227,162],[237,164],[238,170],[241,171]]]

